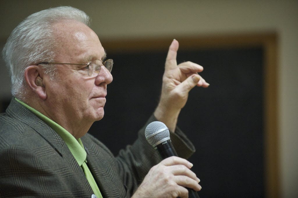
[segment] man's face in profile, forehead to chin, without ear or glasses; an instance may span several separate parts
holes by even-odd
[[[61,21],[53,28],[60,45],[55,62],[87,64],[105,58],[97,35],[85,24]],[[47,78],[46,87],[47,102],[54,111],[52,119],[62,126],[63,122],[84,124],[102,119],[107,85],[113,80],[111,73],[102,66],[97,77],[89,77],[86,66],[58,64],[56,67],[57,78]],[[75,126],[75,123],[69,124]]]

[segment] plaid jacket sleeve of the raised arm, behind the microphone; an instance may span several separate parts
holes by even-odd
[[[152,115],[144,127],[139,130],[138,138],[134,144],[120,150],[116,157],[117,169],[130,196],[136,191],[150,168],[161,161],[158,153],[145,139],[145,128],[153,121],[157,120]],[[175,133],[170,132],[170,137],[179,157],[187,159],[195,152],[193,144],[178,127]]]

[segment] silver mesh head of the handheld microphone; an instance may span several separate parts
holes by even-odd
[[[170,131],[164,123],[154,121],[146,127],[145,137],[149,144],[153,146],[164,138],[170,138]]]

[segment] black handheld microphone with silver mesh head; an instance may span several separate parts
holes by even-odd
[[[154,121],[148,124],[145,129],[145,137],[162,159],[178,156],[170,139],[170,131],[164,123]],[[187,190],[189,198],[200,198],[193,189],[187,188]]]

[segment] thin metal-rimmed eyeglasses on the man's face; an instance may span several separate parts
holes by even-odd
[[[112,67],[113,67],[113,59],[108,59],[105,61],[101,60],[92,60],[88,64],[80,64],[80,63],[49,63],[49,62],[43,62],[43,63],[38,63],[39,64],[66,64],[66,65],[86,65],[86,67],[82,69],[87,69],[88,76],[90,77],[95,77],[100,71],[101,66],[105,66],[105,68],[111,72]]]

